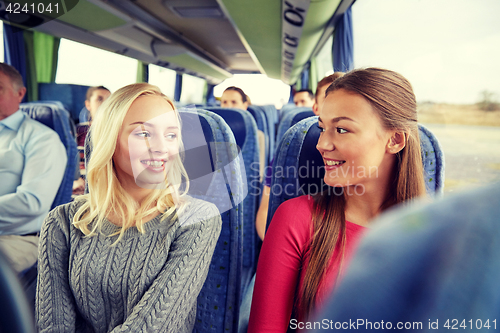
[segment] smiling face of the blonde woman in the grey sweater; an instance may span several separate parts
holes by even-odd
[[[113,162],[124,188],[158,188],[179,154],[180,126],[172,106],[160,96],[136,99],[123,120]]]

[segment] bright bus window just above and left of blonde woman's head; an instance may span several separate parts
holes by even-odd
[[[61,39],[56,83],[103,85],[113,92],[136,77],[137,60]]]

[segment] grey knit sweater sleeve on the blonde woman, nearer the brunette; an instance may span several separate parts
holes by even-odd
[[[218,211],[208,216],[213,217],[178,229],[165,266],[112,333],[185,332],[188,321],[194,324],[188,317],[207,277],[222,224]]]

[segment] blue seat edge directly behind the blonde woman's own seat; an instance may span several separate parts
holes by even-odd
[[[258,236],[255,230],[255,216],[261,188],[259,180],[259,146],[257,124],[249,112],[239,109],[208,108],[222,117],[229,125],[245,163],[248,195],[243,201],[243,274],[242,289],[245,289],[257,266]]]

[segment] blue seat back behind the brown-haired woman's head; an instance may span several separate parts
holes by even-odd
[[[278,206],[301,195],[317,194],[327,188],[321,154],[316,149],[320,129],[318,117],[304,119],[290,128],[280,142],[273,164],[267,226]],[[437,138],[418,125],[426,191],[440,195],[444,187],[444,155]],[[286,189],[280,191],[275,189]]]

